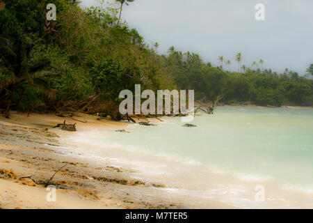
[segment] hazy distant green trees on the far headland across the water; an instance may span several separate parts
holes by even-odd
[[[226,72],[204,63],[200,56],[190,52],[182,53],[170,47],[166,58],[166,70],[174,76],[180,89],[195,89],[198,100],[215,100],[224,95],[224,103],[252,102],[257,105],[313,105],[311,79],[286,70],[278,75],[271,70],[252,70],[245,73]],[[219,56],[220,62],[224,61]],[[241,54],[236,61],[242,60]],[[263,65],[263,61],[259,62]],[[257,66],[254,62],[253,66]],[[310,68],[308,69],[310,70]]]

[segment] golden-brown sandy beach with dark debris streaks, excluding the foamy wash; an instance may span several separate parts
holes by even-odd
[[[63,154],[58,147],[69,134],[128,125],[86,114],[75,118],[87,122],[17,112],[10,119],[0,118],[0,208],[202,208],[188,195],[156,190],[164,187],[160,183],[131,178],[134,169]],[[77,123],[77,132],[53,128],[63,121]],[[56,202],[47,201],[47,184],[56,187]],[[232,208],[220,201],[208,203],[206,208]]]

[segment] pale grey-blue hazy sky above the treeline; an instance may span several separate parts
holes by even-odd
[[[257,3],[265,6],[265,21],[255,20]],[[214,65],[223,55],[238,70],[234,56],[241,52],[246,66],[263,59],[264,68],[300,75],[313,63],[312,0],[135,0],[124,7],[122,19],[146,43],[158,42],[162,54],[174,45]]]

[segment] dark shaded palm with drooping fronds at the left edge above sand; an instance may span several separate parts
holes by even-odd
[[[10,103],[13,93],[24,84],[30,84],[38,90],[45,93],[51,91],[49,83],[43,77],[56,77],[54,72],[47,72],[43,69],[50,64],[47,59],[36,61],[29,66],[29,56],[33,44],[26,42],[24,39],[19,39],[15,43],[15,47],[10,40],[0,38],[0,55],[1,59],[10,74],[10,81],[6,89],[0,92],[0,98],[6,103],[6,118],[9,118]]]

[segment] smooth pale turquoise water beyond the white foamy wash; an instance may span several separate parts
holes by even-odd
[[[238,171],[243,178],[273,178],[313,192],[313,109],[218,107],[196,117],[197,128],[180,118],[157,127],[129,128],[108,140],[175,159]],[[249,179],[247,179],[249,180]]]

